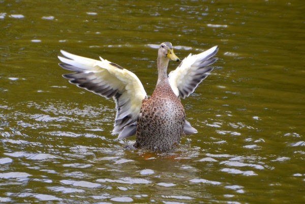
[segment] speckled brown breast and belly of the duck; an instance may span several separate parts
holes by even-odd
[[[143,101],[136,133],[135,147],[168,151],[179,144],[186,115],[169,83],[157,84],[150,99]]]

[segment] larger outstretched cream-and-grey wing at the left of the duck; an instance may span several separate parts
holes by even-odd
[[[60,50],[65,57],[58,56],[59,60],[66,64],[59,64],[60,67],[74,71],[64,74],[70,83],[78,87],[101,95],[107,99],[113,98],[116,104],[116,117],[112,134],[124,131],[119,139],[132,136],[134,124],[137,122],[142,100],[146,93],[139,78],[132,72],[104,60],[92,60],[86,57],[77,56]]]

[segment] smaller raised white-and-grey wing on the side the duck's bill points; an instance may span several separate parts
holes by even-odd
[[[217,58],[211,57],[217,51],[217,46],[214,46],[199,54],[190,54],[176,70],[169,73],[169,83],[178,97],[185,99],[190,96],[198,84],[208,76],[208,73],[213,70],[208,66],[217,61]]]

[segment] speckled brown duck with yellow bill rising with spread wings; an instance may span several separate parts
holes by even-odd
[[[134,148],[168,152],[177,147],[182,135],[198,131],[186,120],[181,99],[189,97],[214,69],[209,67],[218,58],[214,46],[199,54],[190,53],[167,75],[169,61],[179,62],[170,42],[158,49],[158,81],[148,98],[139,78],[131,71],[104,60],[93,60],[71,54],[58,56],[60,67],[73,71],[63,74],[70,83],[115,102],[116,116],[112,134],[118,139],[136,136]],[[64,63],[64,64],[63,64]]]

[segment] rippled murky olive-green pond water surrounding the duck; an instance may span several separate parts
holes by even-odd
[[[304,203],[302,1],[0,1],[0,202]],[[70,84],[59,50],[134,72],[157,49],[218,45],[182,100],[197,134],[171,153],[125,149],[115,105]],[[169,71],[178,66],[170,62]]]

